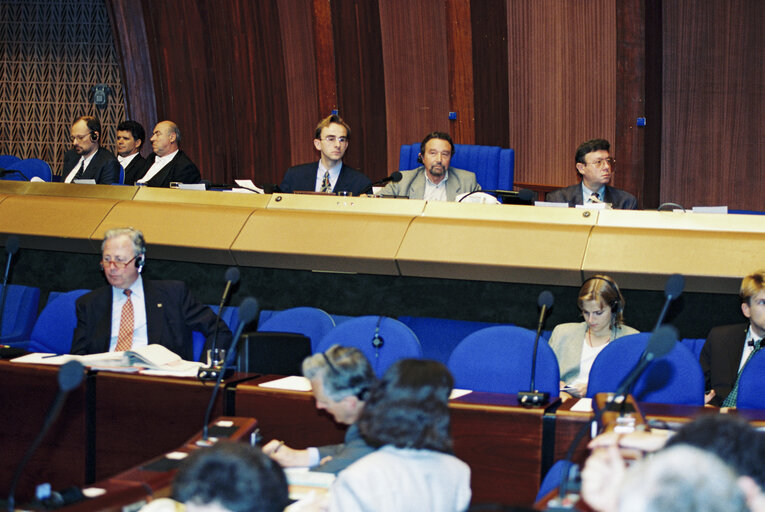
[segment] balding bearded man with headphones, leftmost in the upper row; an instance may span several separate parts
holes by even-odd
[[[70,131],[72,149],[64,154],[62,175],[65,183],[74,180],[96,180],[110,185],[119,181],[120,164],[101,147],[101,123],[95,117],[78,118]]]

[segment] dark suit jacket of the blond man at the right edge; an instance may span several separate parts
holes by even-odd
[[[699,363],[704,370],[706,390],[715,390],[715,397],[709,402],[718,407],[733,389],[744,353],[748,323],[723,325],[709,331]]]

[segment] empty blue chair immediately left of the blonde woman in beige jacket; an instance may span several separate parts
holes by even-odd
[[[449,370],[458,388],[490,393],[529,391],[536,333],[502,325],[481,329],[466,337],[449,357]],[[539,340],[535,387],[557,397],[560,390],[558,359]]]

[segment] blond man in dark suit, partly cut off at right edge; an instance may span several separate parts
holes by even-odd
[[[713,328],[699,357],[706,381],[706,402],[718,407],[724,405],[749,355],[765,337],[765,270],[744,278],[739,297],[749,323]]]

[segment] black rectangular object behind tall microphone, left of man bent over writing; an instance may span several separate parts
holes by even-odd
[[[237,371],[302,375],[303,359],[311,355],[311,339],[288,332],[251,332],[239,340]]]

